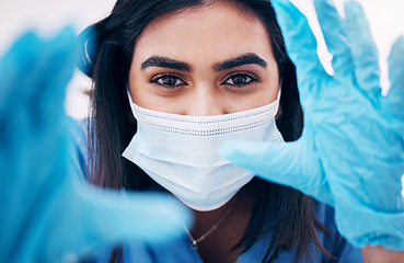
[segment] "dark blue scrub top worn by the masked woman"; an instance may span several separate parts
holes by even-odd
[[[81,171],[84,178],[86,171],[86,123],[71,122],[71,135],[76,142],[76,159],[73,163],[77,171]],[[330,232],[330,237],[324,237],[319,232],[323,247],[336,259],[330,259],[322,255],[313,247],[310,248],[311,255],[315,263],[362,263],[360,250],[349,244],[337,231],[334,221],[334,209],[323,203],[315,202],[315,213],[320,222],[322,222]],[[268,225],[270,222],[268,219]],[[269,228],[268,228],[269,229]],[[268,249],[272,239],[272,231],[264,231],[255,244],[245,253],[242,253],[238,263],[262,262]],[[170,243],[124,243],[123,263],[203,263],[197,251],[192,249],[192,243],[184,231],[184,236]],[[92,254],[85,256],[82,262],[108,262],[112,249],[114,247],[97,248]],[[281,253],[276,263],[293,262],[293,252]],[[312,262],[312,261],[308,261]]]

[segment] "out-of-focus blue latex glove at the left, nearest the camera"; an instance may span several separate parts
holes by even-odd
[[[101,191],[74,173],[64,102],[78,57],[66,28],[48,41],[28,33],[0,59],[0,262],[70,261],[105,242],[163,242],[183,233],[180,216],[191,219],[173,198]]]

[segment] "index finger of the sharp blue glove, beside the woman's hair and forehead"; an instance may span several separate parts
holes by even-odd
[[[315,37],[305,16],[291,2],[288,0],[270,2],[276,11],[288,55],[297,67],[299,90],[303,91],[301,95],[308,94],[315,85],[301,82],[310,81],[311,78],[308,76],[316,75],[319,71],[325,73],[318,57]]]

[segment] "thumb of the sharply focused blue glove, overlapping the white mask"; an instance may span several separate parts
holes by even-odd
[[[333,203],[330,186],[314,152],[302,152],[303,140],[274,145],[268,142],[229,140],[219,152],[235,165],[258,176],[297,188],[324,203]]]

